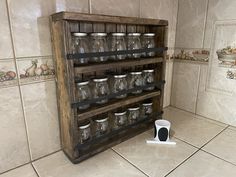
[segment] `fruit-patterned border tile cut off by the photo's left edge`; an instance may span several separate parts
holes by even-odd
[[[17,74],[13,59],[0,61],[0,88],[17,85]]]

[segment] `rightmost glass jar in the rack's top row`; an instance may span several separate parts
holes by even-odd
[[[155,33],[144,33],[142,37],[142,48],[149,49],[156,47],[155,44]],[[146,57],[153,57],[155,56],[155,52],[146,52],[143,53]]]

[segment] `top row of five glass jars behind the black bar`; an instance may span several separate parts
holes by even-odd
[[[72,33],[72,54],[122,51],[134,49],[154,48],[155,33]],[[126,58],[153,57],[155,52],[122,54],[114,56],[98,56],[91,58],[80,58],[76,60],[77,64],[86,64],[88,62],[103,62],[108,59],[123,60]]]

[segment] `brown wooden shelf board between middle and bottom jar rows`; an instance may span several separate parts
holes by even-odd
[[[111,111],[113,109],[117,109],[122,106],[126,106],[126,105],[136,103],[145,99],[156,97],[156,96],[159,96],[160,94],[161,94],[161,91],[158,90],[158,91],[142,93],[140,95],[129,96],[122,100],[117,100],[117,99],[111,100],[106,104],[99,105],[98,107],[92,107],[86,110],[85,112],[79,113],[78,120],[82,121],[94,115],[102,114],[104,112]]]

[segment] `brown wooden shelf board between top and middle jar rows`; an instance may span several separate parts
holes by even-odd
[[[155,64],[163,62],[163,58],[156,57],[156,58],[141,58],[141,59],[128,59],[123,61],[108,61],[105,63],[97,63],[91,65],[84,65],[75,67],[76,73],[88,73],[88,72],[95,72],[101,71],[106,69],[112,68],[121,68],[121,67],[129,67],[129,66],[137,66],[137,65],[146,65],[146,64]]]

